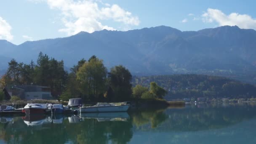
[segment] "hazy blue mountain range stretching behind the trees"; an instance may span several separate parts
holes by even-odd
[[[133,75],[256,72],[256,31],[237,26],[184,32],[166,26],[126,32],[104,29],[20,45],[0,40],[0,49],[1,70],[12,58],[24,63],[36,61],[42,51],[64,60],[65,67],[96,55],[106,67],[122,64]]]

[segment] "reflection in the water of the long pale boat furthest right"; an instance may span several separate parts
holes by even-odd
[[[80,119],[96,119],[98,121],[127,121],[130,116],[127,112],[95,112],[81,113]]]

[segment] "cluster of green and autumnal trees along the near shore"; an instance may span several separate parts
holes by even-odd
[[[1,86],[42,85],[51,87],[53,97],[67,101],[82,98],[85,101],[130,101],[138,99],[163,99],[166,91],[156,83],[150,88],[137,85],[132,88],[132,75],[122,65],[112,67],[108,72],[103,60],[96,56],[81,59],[64,70],[64,61],[49,58],[39,53],[37,63],[8,62],[8,70],[0,80]],[[138,92],[139,91],[139,92]]]

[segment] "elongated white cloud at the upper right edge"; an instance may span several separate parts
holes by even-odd
[[[219,26],[235,26],[243,29],[256,29],[256,19],[253,19],[247,14],[230,13],[226,15],[218,9],[208,8],[207,12],[203,13],[202,20],[205,23],[216,21]]]

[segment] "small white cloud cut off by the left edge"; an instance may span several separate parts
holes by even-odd
[[[0,39],[5,39],[8,41],[13,40],[13,35],[11,35],[11,25],[7,23],[2,17],[0,17]]]

